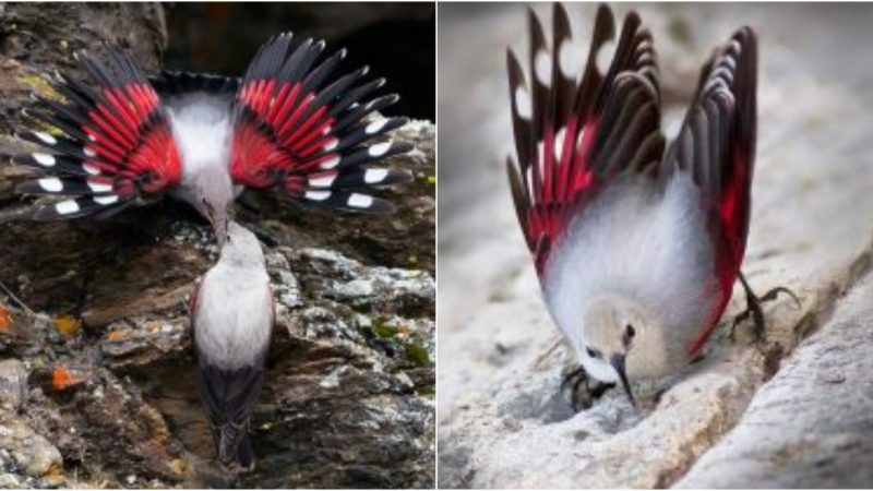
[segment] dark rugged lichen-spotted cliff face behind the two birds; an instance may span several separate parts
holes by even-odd
[[[121,40],[147,68],[166,43],[154,5],[2,7],[0,153],[38,70]],[[84,26],[84,27],[83,27]],[[44,34],[46,33],[46,34]],[[35,39],[39,39],[36,41]],[[186,300],[215,260],[206,224],[168,201],[109,221],[35,224],[0,160],[0,487],[430,487],[434,459],[434,127],[390,164],[385,218],[291,209],[243,195],[278,322],[253,417],[259,466],[214,462],[195,391]]]

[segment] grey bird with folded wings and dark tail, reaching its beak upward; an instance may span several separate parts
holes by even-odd
[[[275,322],[261,244],[231,221],[218,262],[191,296],[200,397],[212,422],[218,459],[251,469],[249,419],[264,381]]]

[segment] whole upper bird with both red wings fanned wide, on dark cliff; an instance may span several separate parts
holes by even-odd
[[[35,95],[25,110],[58,131],[17,132],[48,151],[13,157],[46,171],[19,191],[68,196],[36,207],[37,219],[107,217],[168,192],[208,219],[219,241],[243,188],[303,206],[391,212],[367,191],[410,176],[368,165],[411,149],[373,142],[406,122],[374,115],[398,96],[366,100],[384,79],[368,81],[367,67],[336,76],[346,50],[323,57],[324,48],[282,34],[242,79],[165,72],[152,81],[119,50],[107,48],[104,60],[77,52],[92,80],[48,76],[63,100]]]

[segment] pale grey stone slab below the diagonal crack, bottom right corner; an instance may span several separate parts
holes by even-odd
[[[873,486],[873,276],[755,394],[678,488]]]

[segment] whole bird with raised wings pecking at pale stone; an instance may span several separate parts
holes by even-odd
[[[787,291],[758,298],[740,272],[755,157],[755,35],[742,27],[715,50],[665,152],[655,49],[635,12],[606,73],[596,58],[615,34],[608,7],[597,11],[581,76],[562,5],[552,49],[533,11],[529,28],[529,84],[507,52],[518,221],[552,319],[581,362],[565,383],[595,397],[621,383],[633,403],[629,379],[670,374],[701,351],[738,277],[758,332],[761,302]]]

